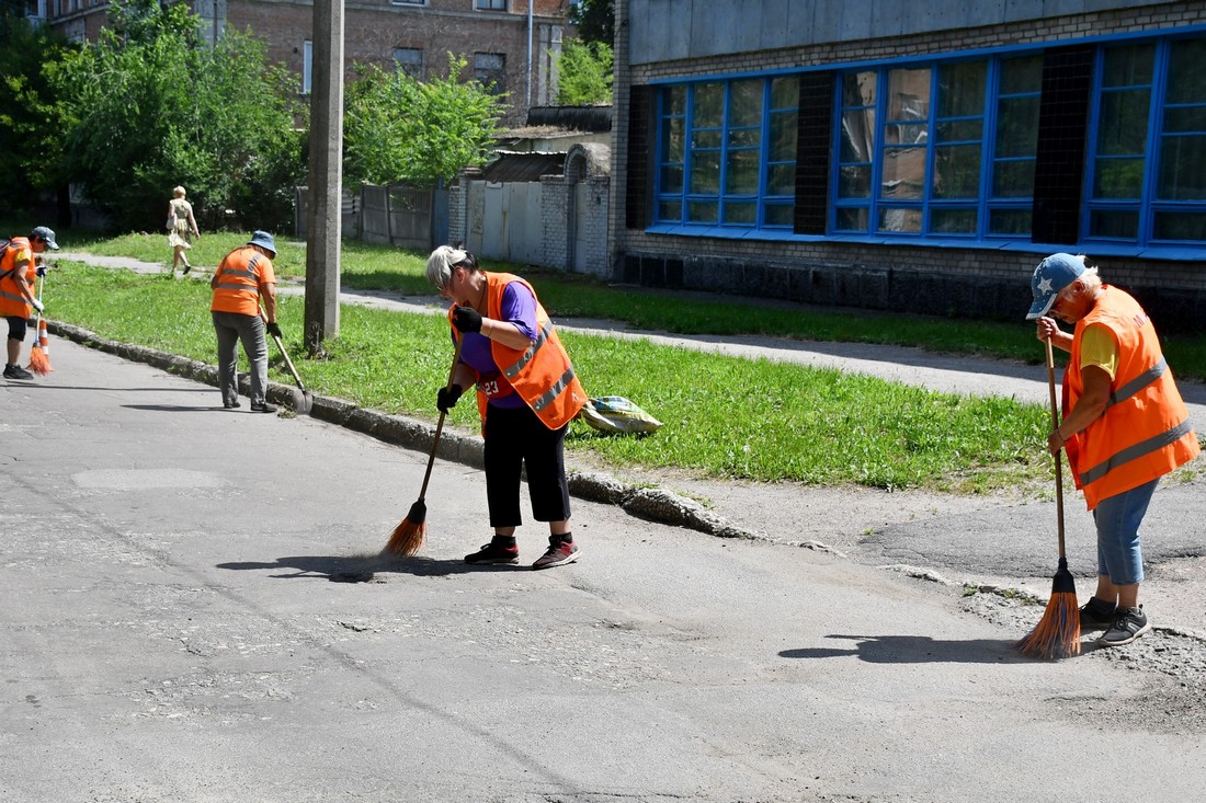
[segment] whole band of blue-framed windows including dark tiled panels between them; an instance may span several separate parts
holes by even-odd
[[[1206,245],[1204,64],[1196,33],[666,84],[652,222],[1183,253]]]

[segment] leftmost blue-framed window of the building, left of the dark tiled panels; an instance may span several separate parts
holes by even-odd
[[[795,76],[662,90],[655,219],[790,230],[798,102]]]

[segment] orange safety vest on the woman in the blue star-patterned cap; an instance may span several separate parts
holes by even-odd
[[[1064,415],[1084,392],[1081,338],[1085,327],[1095,323],[1113,333],[1118,369],[1105,412],[1066,444],[1076,487],[1084,491],[1089,510],[1102,499],[1164,476],[1200,451],[1152,322],[1138,301],[1108,285],[1089,315],[1076,324],[1064,374]]]

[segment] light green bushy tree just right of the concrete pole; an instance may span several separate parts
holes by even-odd
[[[350,184],[434,187],[486,163],[504,98],[475,81],[461,82],[466,64],[449,54],[447,76],[426,82],[402,70],[357,65],[344,101],[344,177]]]

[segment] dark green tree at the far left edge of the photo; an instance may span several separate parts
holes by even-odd
[[[70,46],[17,5],[0,5],[0,213],[27,211],[63,172],[62,106],[47,72]],[[7,236],[11,233],[0,233]]]

